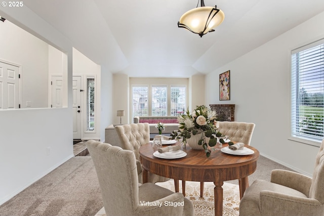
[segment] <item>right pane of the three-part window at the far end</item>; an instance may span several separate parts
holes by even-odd
[[[184,114],[186,110],[186,87],[171,87],[171,115]]]

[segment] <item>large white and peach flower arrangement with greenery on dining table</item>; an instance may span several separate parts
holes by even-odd
[[[201,137],[197,144],[203,146],[207,157],[211,155],[209,147],[216,146],[218,140],[225,143],[221,138],[222,134],[217,131],[219,122],[217,121],[216,112],[205,105],[197,106],[192,113],[187,110],[185,114],[178,116],[178,121],[179,128],[178,131],[171,134],[172,139],[182,139],[185,146],[192,135],[200,134]],[[233,143],[230,142],[229,144]]]

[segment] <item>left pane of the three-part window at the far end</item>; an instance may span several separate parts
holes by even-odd
[[[148,87],[133,87],[133,118],[148,115]]]

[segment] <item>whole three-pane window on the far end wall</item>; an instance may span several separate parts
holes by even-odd
[[[135,116],[178,116],[186,110],[186,87],[175,85],[133,86]]]

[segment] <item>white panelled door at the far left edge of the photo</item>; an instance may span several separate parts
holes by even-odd
[[[0,109],[19,108],[19,67],[0,62]]]

